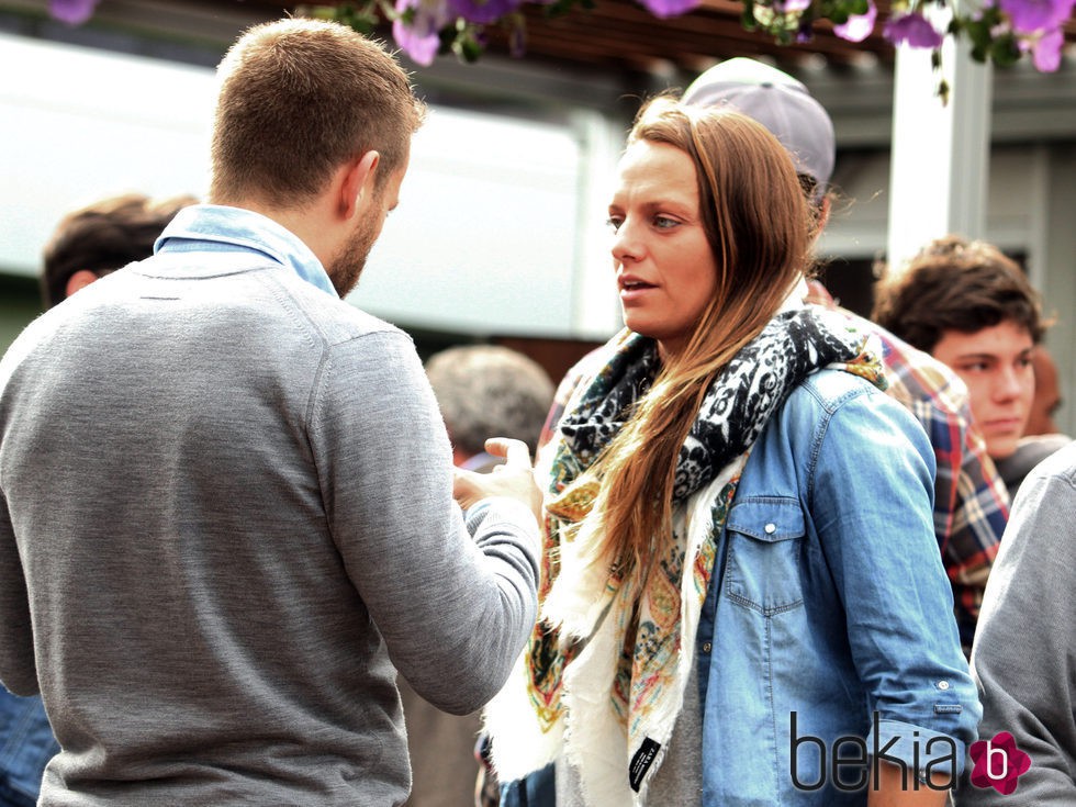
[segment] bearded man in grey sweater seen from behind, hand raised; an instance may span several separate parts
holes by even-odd
[[[395,805],[400,671],[468,713],[536,612],[526,450],[466,475],[411,340],[343,302],[422,120],[333,23],[221,65],[208,205],[0,361],[0,680],[41,804]]]

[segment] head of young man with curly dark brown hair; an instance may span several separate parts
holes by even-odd
[[[872,318],[963,379],[991,458],[1017,450],[1046,323],[1013,260],[984,242],[938,238],[877,284]]]

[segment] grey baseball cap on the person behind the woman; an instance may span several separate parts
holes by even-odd
[[[799,173],[826,192],[833,176],[833,122],[807,87],[787,72],[754,59],[728,59],[706,70],[684,91],[693,107],[728,105],[765,126],[788,149]]]

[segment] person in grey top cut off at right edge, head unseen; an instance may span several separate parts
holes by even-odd
[[[983,720],[961,807],[1076,804],[1076,444],[1020,485],[972,649]]]

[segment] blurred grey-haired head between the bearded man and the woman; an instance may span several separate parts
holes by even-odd
[[[430,356],[426,376],[457,466],[481,471],[496,464],[485,452],[490,437],[523,440],[534,456],[554,392],[537,361],[497,345],[468,345]]]

